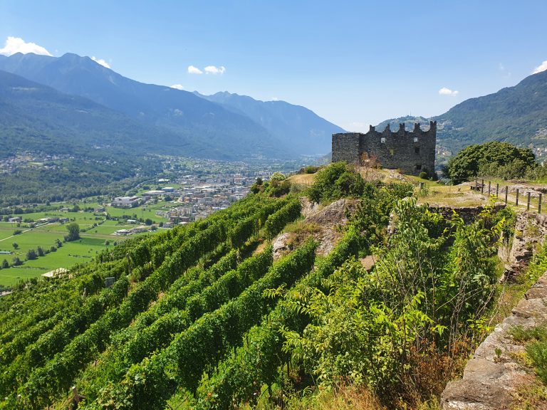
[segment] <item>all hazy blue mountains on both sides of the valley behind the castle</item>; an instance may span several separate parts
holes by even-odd
[[[216,159],[324,154],[342,128],[306,107],[245,95],[202,95],[139,83],[88,57],[0,56],[0,155],[95,151],[179,154]],[[547,152],[547,72],[471,98],[436,117],[439,159],[469,144],[511,142]]]

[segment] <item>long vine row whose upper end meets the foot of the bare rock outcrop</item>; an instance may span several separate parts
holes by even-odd
[[[178,386],[195,390],[204,369],[212,367],[244,332],[271,308],[264,290],[282,283],[291,285],[313,266],[315,244],[302,248],[274,264],[269,272],[238,298],[207,313],[174,338],[169,347],[143,360],[127,372],[123,382],[103,390],[103,408],[115,403],[120,409],[163,409]]]

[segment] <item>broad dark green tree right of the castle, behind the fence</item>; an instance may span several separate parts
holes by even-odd
[[[469,145],[448,163],[448,177],[460,184],[479,175],[503,179],[523,178],[536,167],[536,157],[529,148],[517,148],[508,142]]]

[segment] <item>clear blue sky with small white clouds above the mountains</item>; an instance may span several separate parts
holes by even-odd
[[[0,50],[94,56],[144,83],[286,100],[359,131],[547,68],[546,19],[546,0],[1,0]]]

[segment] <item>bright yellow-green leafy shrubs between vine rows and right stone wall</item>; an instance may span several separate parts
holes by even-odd
[[[466,225],[399,201],[395,233],[372,247],[372,272],[346,263],[325,290],[299,293],[298,310],[311,323],[303,332],[283,330],[285,352],[318,384],[342,378],[396,396],[412,372],[412,352],[431,342],[451,349],[468,332],[462,323],[474,322],[491,300],[490,243],[500,226],[484,228],[489,217]]]

